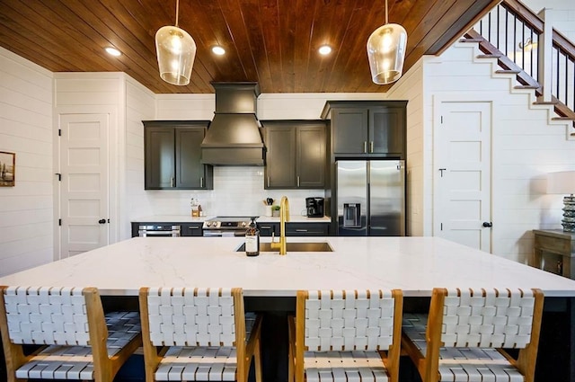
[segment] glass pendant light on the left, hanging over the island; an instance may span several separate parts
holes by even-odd
[[[155,52],[160,77],[169,84],[190,84],[191,67],[196,58],[196,42],[178,27],[180,0],[176,0],[176,25],[164,26],[155,33]]]

